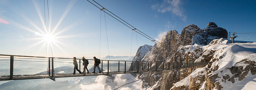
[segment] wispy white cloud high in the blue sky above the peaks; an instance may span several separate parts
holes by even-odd
[[[182,18],[183,21],[185,21],[186,16],[183,14],[180,1],[181,0],[164,0],[161,4],[152,5],[151,8],[162,13],[171,12],[174,15]]]

